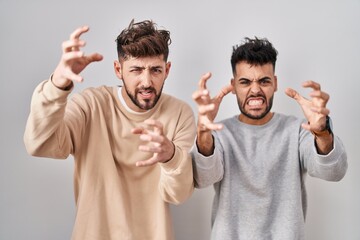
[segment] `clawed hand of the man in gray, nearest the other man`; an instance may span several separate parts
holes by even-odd
[[[199,89],[192,95],[193,100],[198,105],[198,132],[207,132],[211,130],[219,130],[222,124],[214,123],[214,119],[219,111],[223,97],[230,93],[233,89],[228,85],[214,98],[210,97],[210,93],[206,87],[207,80],[211,77],[211,73],[204,74],[199,81]]]

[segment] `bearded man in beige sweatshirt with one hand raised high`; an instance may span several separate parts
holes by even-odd
[[[69,94],[98,53],[86,55],[76,29],[62,44],[50,79],[34,91],[24,142],[33,156],[75,159],[77,206],[72,239],[174,239],[169,203],[193,192],[189,150],[193,112],[162,93],[169,74],[170,33],[152,21],[117,37],[116,76],[123,86]]]

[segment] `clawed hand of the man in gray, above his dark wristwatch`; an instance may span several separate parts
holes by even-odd
[[[295,99],[301,106],[308,123],[304,123],[302,127],[309,131],[321,132],[325,129],[326,116],[330,111],[326,108],[329,101],[329,94],[321,91],[320,84],[314,81],[306,81],[302,85],[305,88],[312,88],[310,92],[311,99],[306,99],[297,91],[287,88],[285,93]]]

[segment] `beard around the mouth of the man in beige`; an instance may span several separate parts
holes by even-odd
[[[124,82],[124,88],[125,88],[125,91],[126,91],[126,94],[129,96],[129,98],[131,99],[131,101],[140,109],[142,110],[150,110],[152,109],[156,103],[159,101],[160,99],[160,96],[161,96],[161,93],[162,93],[162,89],[163,89],[164,85],[161,86],[161,89],[159,91],[159,93],[157,93],[156,89],[153,88],[153,87],[148,87],[148,88],[145,88],[145,87],[141,87],[141,88],[136,88],[135,89],[135,93],[132,94],[129,89],[126,87],[126,84]],[[155,95],[155,98],[154,99],[144,99],[142,100],[143,103],[140,102],[140,100],[138,99],[138,93],[140,91],[151,91],[154,93]]]

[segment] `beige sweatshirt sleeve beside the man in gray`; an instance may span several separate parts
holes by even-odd
[[[180,113],[173,136],[175,153],[171,160],[161,163],[160,193],[164,201],[180,204],[188,199],[193,190],[193,172],[190,156],[195,138],[195,121],[191,108],[185,105]]]

